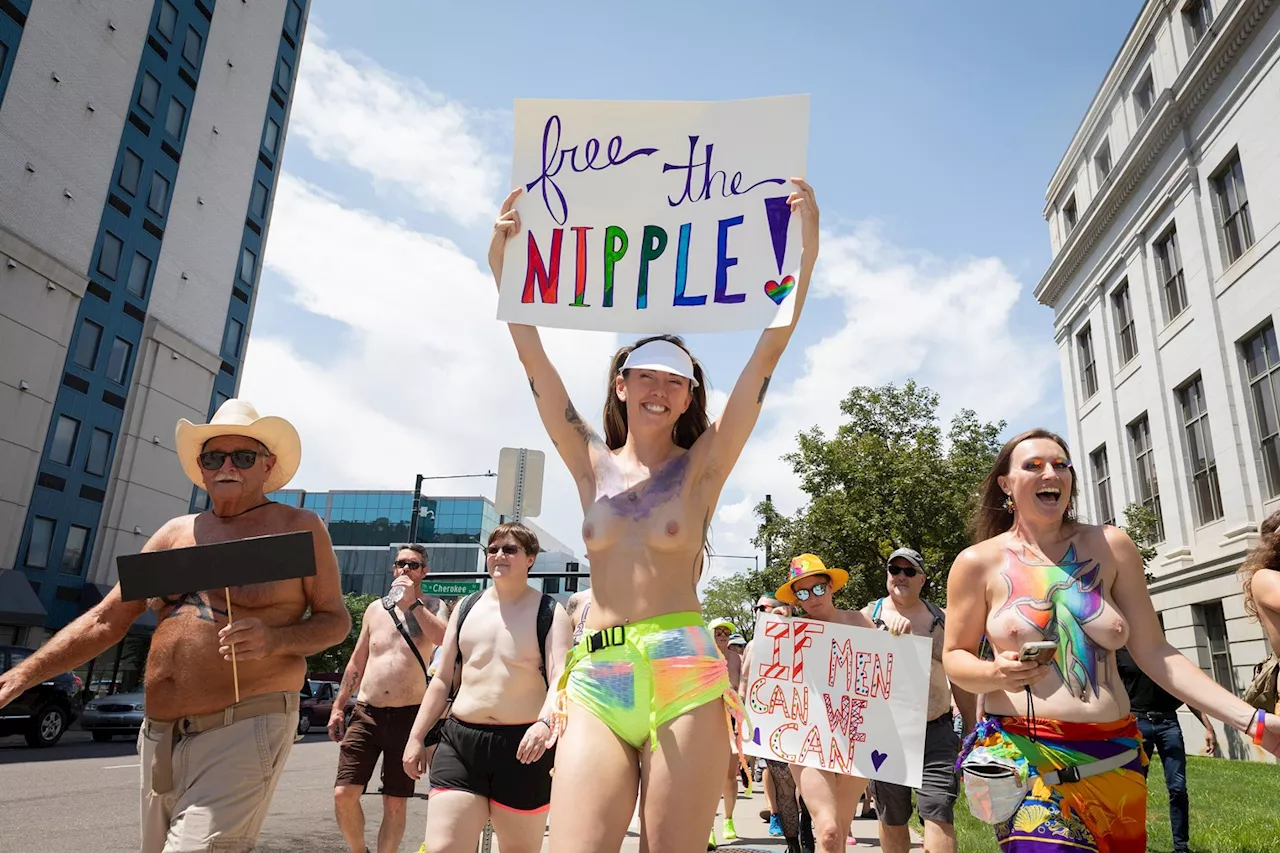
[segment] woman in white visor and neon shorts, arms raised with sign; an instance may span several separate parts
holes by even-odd
[[[623,347],[609,365],[604,435],[577,414],[538,329],[509,324],[538,412],[577,483],[591,561],[591,612],[561,684],[550,848],[618,849],[640,794],[641,847],[699,849],[727,771],[728,716],[741,701],[699,611],[695,585],[719,492],[791,341],[818,257],[818,207],[799,178],[787,199],[803,232],[795,311],[765,329],[724,412],[680,338]],[[502,280],[520,233],[516,190],[502,205],[489,266]],[[741,749],[737,751],[741,754]]]

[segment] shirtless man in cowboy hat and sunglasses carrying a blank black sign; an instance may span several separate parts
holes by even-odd
[[[150,606],[157,626],[138,735],[141,850],[251,850],[293,745],[305,656],[342,642],[351,616],[324,523],[266,498],[298,470],[302,447],[293,426],[229,400],[206,425],[178,421],[175,438],[183,471],[209,492],[212,510],[165,523],[143,551],[308,530],[315,576],[234,587],[230,602],[221,589],[123,601],[116,584],[97,607],[0,676],[0,707],[119,643]],[[230,624],[228,605],[236,615]]]

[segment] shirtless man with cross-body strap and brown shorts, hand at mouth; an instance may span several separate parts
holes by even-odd
[[[426,662],[444,639],[449,619],[443,601],[419,593],[428,571],[424,546],[408,544],[396,553],[390,593],[365,608],[360,637],[329,716],[329,736],[342,744],[333,789],[334,812],[351,853],[365,853],[365,809],[360,797],[379,756],[383,757],[383,821],[378,827],[378,853],[396,853],[404,838],[415,783],[404,774],[401,758],[430,681]],[[351,727],[346,729],[347,699],[352,693],[356,707]],[[426,739],[429,752],[439,740],[439,730],[433,735]]]

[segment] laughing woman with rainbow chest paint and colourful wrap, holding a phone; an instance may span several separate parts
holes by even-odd
[[[1121,646],[1169,693],[1280,753],[1280,719],[1165,640],[1138,548],[1124,530],[1078,521],[1076,489],[1066,442],[1015,435],[947,584],[947,676],[986,702],[965,789],[1006,853],[1147,849],[1147,757],[1116,670]],[[978,654],[984,635],[995,660]]]

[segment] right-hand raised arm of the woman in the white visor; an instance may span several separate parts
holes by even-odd
[[[737,457],[746,446],[755,421],[760,418],[760,409],[764,405],[764,394],[769,389],[769,380],[773,370],[778,366],[778,360],[791,342],[796,323],[800,321],[800,311],[804,309],[805,297],[809,295],[809,279],[813,277],[814,264],[818,261],[818,202],[814,200],[813,187],[801,178],[791,178],[799,187],[787,200],[791,213],[800,215],[800,234],[803,250],[800,252],[800,280],[796,282],[795,300],[791,313],[791,323],[776,328],[765,329],[760,334],[755,351],[742,368],[737,384],[724,405],[724,411],[712,424],[694,452],[704,457],[704,471],[723,485],[730,471],[737,462]],[[700,447],[704,446],[705,448]]]

